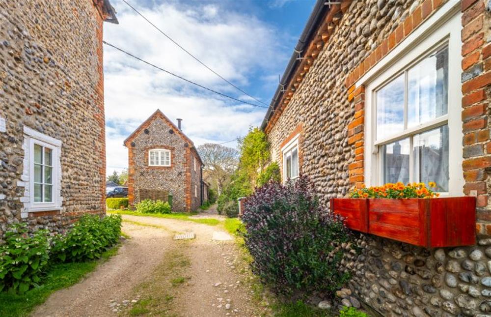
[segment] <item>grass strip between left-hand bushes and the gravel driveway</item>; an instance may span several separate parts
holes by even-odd
[[[0,293],[0,316],[29,316],[30,312],[36,306],[44,303],[53,292],[78,283],[82,277],[93,271],[98,264],[116,255],[120,245],[118,244],[104,252],[99,260],[53,265],[48,271],[43,284],[28,290],[24,294]]]

